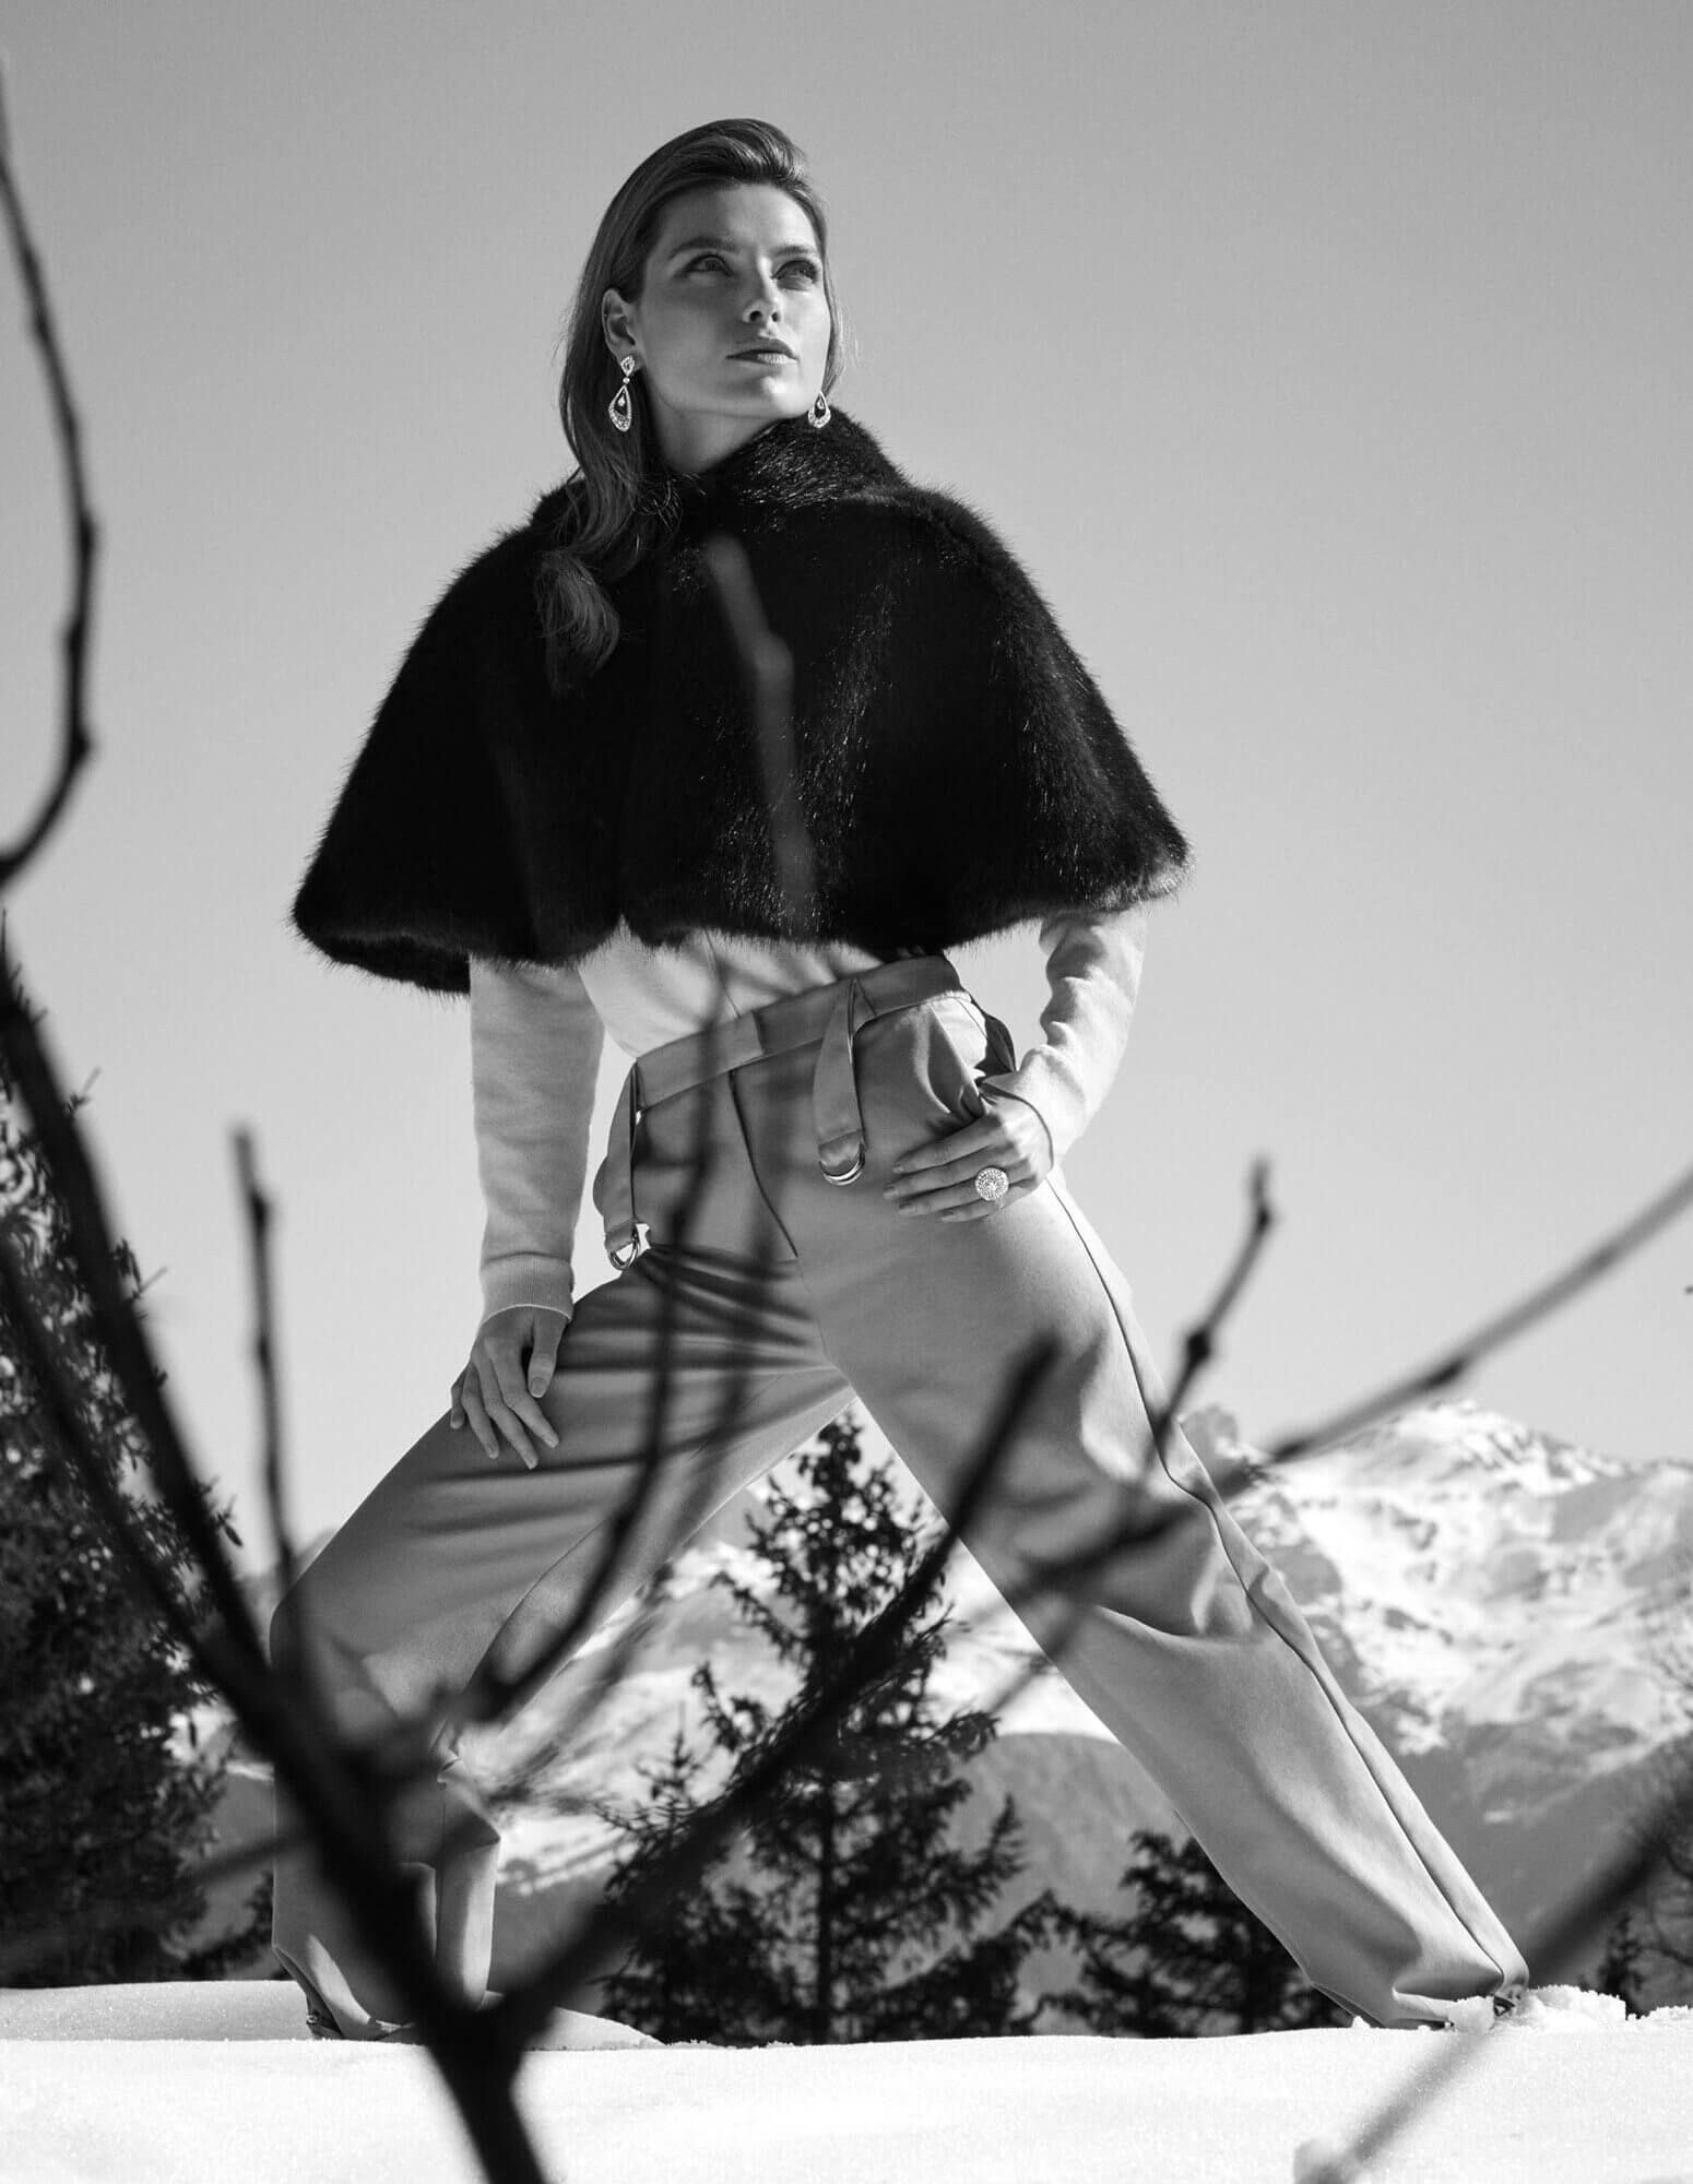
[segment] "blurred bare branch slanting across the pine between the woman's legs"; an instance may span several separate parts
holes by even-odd
[[[826,1747],[865,1684],[887,1673],[887,1664],[900,1649],[907,1623],[939,1583],[957,1540],[968,1531],[985,1494],[992,1489],[1016,1431],[1053,1367],[1053,1358],[1055,1345],[1042,1341],[1009,1374],[996,1415],[966,1479],[957,1511],[948,1518],[935,1546],[924,1555],[900,1592],[854,1638],[839,1675],[817,1693],[810,1706],[793,1712],[789,1723],[771,1738],[738,1782],[732,1782],[721,1797],[692,1815],[690,1824],[653,1861],[640,1900],[596,1904],[577,1933],[546,1957],[520,1990],[509,1992],[489,2011],[489,2018],[500,2029],[500,2038],[513,2049],[522,2051],[546,2022],[550,2007],[564,1994],[572,1992],[579,1981],[592,1977],[614,1950],[627,1948],[658,1924],[664,1904],[677,1889],[688,1887],[706,1872],[717,1850],[765,1804],[782,1778],[795,1767],[804,1767],[813,1754]]]

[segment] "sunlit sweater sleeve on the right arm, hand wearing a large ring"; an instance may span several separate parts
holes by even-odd
[[[992,1092],[1025,1101],[1046,1125],[1059,1162],[1112,1088],[1147,954],[1147,904],[1127,911],[1059,911],[1040,926],[1051,998],[1042,1044],[1020,1068],[983,1077]]]

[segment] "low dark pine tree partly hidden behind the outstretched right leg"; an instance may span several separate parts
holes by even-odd
[[[1121,1920],[1062,1920],[1066,1937],[1081,1946],[1081,1990],[1057,1996],[1062,2007],[1097,2033],[1143,2040],[1350,2022],[1309,1985],[1195,1841],[1177,1848],[1140,1828],[1132,1848],[1123,1887],[1134,1891],[1134,1909]]]

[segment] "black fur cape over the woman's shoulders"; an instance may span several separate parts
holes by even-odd
[[[747,550],[793,651],[808,937],[944,950],[1057,909],[1164,895],[1188,850],[1044,598],[992,526],[839,408],[673,480],[675,535],[605,581],[623,638],[555,695],[542,496],[428,614],[295,900],[328,957],[465,992],[470,957],[572,963],[618,919],[797,937],[745,684],[701,542]]]

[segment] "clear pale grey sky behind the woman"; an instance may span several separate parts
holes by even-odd
[[[1160,1354],[1256,1153],[1282,1225],[1204,1389],[1256,1439],[1693,1158],[1693,9],[13,0],[0,50],[105,526],[100,751],[11,926],[253,1553],[232,1125],[306,1531],[478,1313],[463,1009],[288,900],[422,614],[570,467],[607,199],[717,116],[810,155],[837,402],[998,524],[1195,843],[1066,1162]],[[66,548],[7,295],[11,834]],[[1027,1042],[1033,939],[963,963]],[[1682,1225],[1470,1391],[1686,1455],[1689,1284]]]

